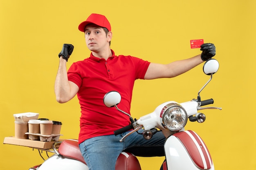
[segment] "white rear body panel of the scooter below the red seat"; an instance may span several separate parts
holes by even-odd
[[[49,157],[38,170],[89,170],[88,166],[75,159],[58,157],[56,154]]]

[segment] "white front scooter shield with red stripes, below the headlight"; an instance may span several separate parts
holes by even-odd
[[[168,170],[214,170],[207,146],[194,131],[175,133],[164,144]]]

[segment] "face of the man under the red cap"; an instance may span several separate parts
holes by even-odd
[[[101,52],[101,50],[109,48],[110,40],[110,34],[106,35],[102,27],[95,24],[88,24],[85,27],[85,42],[89,50]]]

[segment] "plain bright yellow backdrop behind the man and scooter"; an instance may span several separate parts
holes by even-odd
[[[77,139],[77,98],[59,104],[54,80],[62,44],[74,45],[67,66],[87,58],[77,27],[91,13],[108,17],[111,48],[150,62],[169,63],[200,53],[191,39],[216,45],[220,69],[202,91],[213,98],[203,124],[189,122],[207,144],[217,170],[255,170],[255,0],[0,0],[0,140],[14,135],[15,113],[36,112],[63,122],[63,138]],[[128,68],[127,68],[128,69]],[[202,65],[176,78],[135,83],[132,117],[152,112],[168,100],[196,98],[208,76]],[[140,158],[143,170],[159,169],[163,157]],[[42,163],[31,148],[0,144],[0,169],[27,170]]]

